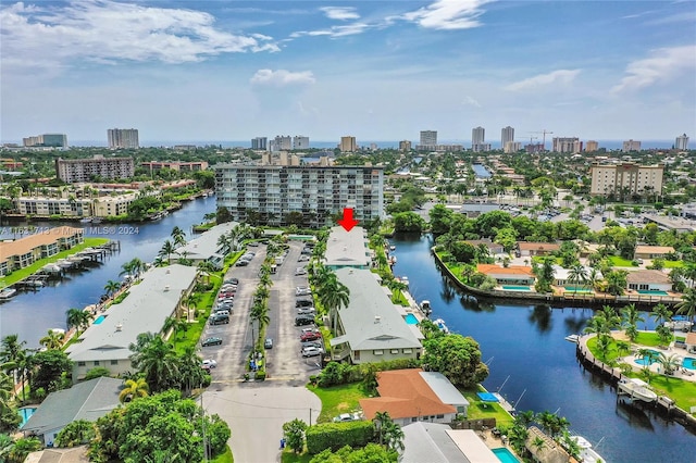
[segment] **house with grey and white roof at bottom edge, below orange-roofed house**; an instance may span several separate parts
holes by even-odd
[[[411,423],[403,431],[401,463],[499,463],[473,429],[452,429],[439,423]]]

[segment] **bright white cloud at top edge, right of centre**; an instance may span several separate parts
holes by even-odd
[[[470,29],[481,26],[481,7],[492,0],[438,0],[425,8],[406,13],[401,18],[428,29]]]

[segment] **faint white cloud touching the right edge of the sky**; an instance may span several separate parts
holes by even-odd
[[[661,48],[654,50],[649,58],[637,60],[626,66],[626,76],[611,91],[620,93],[635,90],[659,82],[671,80],[684,72],[696,68],[696,46]]]

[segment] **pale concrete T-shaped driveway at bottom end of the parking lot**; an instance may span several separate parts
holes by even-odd
[[[315,423],[322,406],[304,387],[277,383],[212,385],[202,401],[208,413],[229,425],[232,453],[244,463],[279,462],[283,424],[295,418]]]

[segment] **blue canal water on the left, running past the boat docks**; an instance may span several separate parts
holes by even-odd
[[[200,224],[203,215],[215,211],[215,198],[201,198],[184,203],[184,207],[171,213],[161,221],[139,224],[76,224],[65,225],[80,226],[85,228],[85,236],[95,236],[121,241],[121,252],[111,254],[105,262],[97,267],[83,273],[67,274],[67,278],[44,287],[36,292],[21,292],[7,302],[0,303],[0,338],[11,334],[18,334],[20,338],[27,341],[27,347],[38,347],[38,340],[46,336],[51,328],[66,328],[65,312],[71,308],[83,309],[86,305],[99,301],[104,293],[104,285],[108,280],[121,280],[119,274],[121,266],[139,258],[144,262],[152,262],[162,243],[171,239],[170,235],[174,226],[186,232],[186,238],[190,239],[191,226]],[[13,224],[14,225],[14,224]],[[38,229],[57,226],[58,223],[38,223],[32,225]],[[115,228],[114,233],[111,228]],[[0,239],[12,239],[8,227],[7,235],[0,235]],[[121,233],[119,233],[121,232]]]

